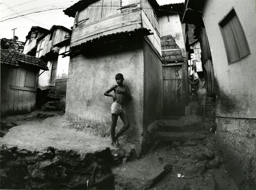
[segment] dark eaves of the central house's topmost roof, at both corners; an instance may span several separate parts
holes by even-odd
[[[70,6],[69,8],[63,10],[64,14],[68,15],[69,17],[75,17],[76,11],[82,11],[90,4],[93,4],[99,0],[80,0],[74,5]],[[153,9],[159,9],[159,4],[156,0],[148,0],[148,2],[151,4]]]

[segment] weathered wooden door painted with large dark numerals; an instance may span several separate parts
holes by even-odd
[[[184,115],[182,65],[163,66],[163,115]]]

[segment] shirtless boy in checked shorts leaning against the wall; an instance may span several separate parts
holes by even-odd
[[[119,145],[118,138],[130,127],[129,119],[124,110],[124,104],[128,100],[130,100],[132,96],[130,94],[128,86],[123,84],[123,81],[124,81],[123,75],[118,73],[115,78],[116,78],[117,85],[114,85],[110,89],[108,89],[104,93],[104,95],[112,96],[114,100],[111,106],[111,114],[112,114],[112,124],[110,128],[110,136],[112,139],[111,145],[120,149],[121,146]],[[111,91],[114,91],[114,94],[109,94],[109,92]],[[117,126],[118,116],[122,119],[124,126],[120,129],[120,131],[115,136],[115,129]]]

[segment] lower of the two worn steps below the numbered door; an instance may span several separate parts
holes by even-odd
[[[173,132],[173,131],[157,131],[156,139],[168,142],[168,141],[179,141],[179,142],[188,142],[193,139],[200,140],[206,138],[206,133],[199,132]]]

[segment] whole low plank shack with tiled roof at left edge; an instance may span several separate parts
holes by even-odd
[[[39,69],[48,70],[41,59],[1,49],[1,116],[35,109]]]

